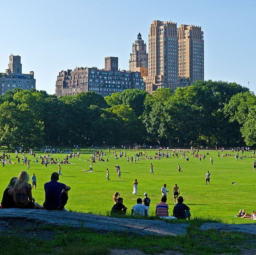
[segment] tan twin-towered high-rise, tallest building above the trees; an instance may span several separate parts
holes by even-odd
[[[148,36],[147,92],[203,80],[203,32],[199,26],[154,20]]]

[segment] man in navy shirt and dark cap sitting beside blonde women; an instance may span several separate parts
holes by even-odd
[[[54,172],[51,181],[44,185],[45,202],[43,205],[46,210],[67,211],[64,206],[68,202],[68,190],[71,188],[58,180],[59,174]]]

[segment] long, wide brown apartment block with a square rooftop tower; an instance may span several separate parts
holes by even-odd
[[[73,71],[61,71],[57,76],[55,94],[75,96],[80,92],[94,91],[102,96],[110,96],[124,89],[145,89],[139,72],[118,70],[118,58],[106,57],[105,68],[76,67]]]

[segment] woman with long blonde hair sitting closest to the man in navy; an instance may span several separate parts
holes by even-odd
[[[19,208],[26,209],[43,209],[44,207],[38,203],[35,203],[35,199],[32,196],[32,187],[28,183],[29,175],[26,171],[22,171],[14,185],[14,201]]]

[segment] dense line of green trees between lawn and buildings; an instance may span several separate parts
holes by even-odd
[[[127,89],[105,98],[15,89],[0,96],[0,143],[51,146],[252,146],[256,144],[256,96],[223,81],[178,88]]]

